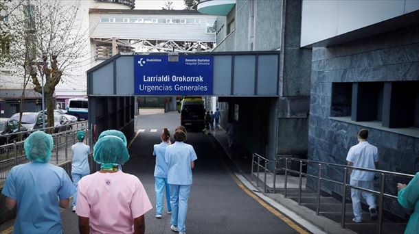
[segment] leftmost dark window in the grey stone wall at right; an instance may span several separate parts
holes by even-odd
[[[330,116],[350,116],[351,105],[352,83],[333,83]]]

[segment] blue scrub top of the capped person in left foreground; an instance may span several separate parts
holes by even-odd
[[[74,192],[63,168],[37,162],[14,166],[1,192],[17,201],[13,233],[63,233],[58,199]]]

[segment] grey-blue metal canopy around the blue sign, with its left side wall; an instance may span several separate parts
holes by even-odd
[[[150,55],[168,56],[167,53],[144,56]],[[206,95],[278,96],[280,51],[179,53],[191,59],[206,55],[212,56],[213,63],[212,92]],[[135,66],[139,65],[135,56],[138,55],[118,54],[87,71],[89,122],[97,127],[97,133],[106,129],[119,129],[127,137],[134,133]]]

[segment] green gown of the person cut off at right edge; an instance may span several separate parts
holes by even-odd
[[[398,192],[398,203],[405,209],[414,209],[407,222],[405,234],[419,233],[419,172],[407,187]]]

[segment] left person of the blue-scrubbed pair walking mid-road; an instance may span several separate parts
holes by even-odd
[[[155,190],[156,190],[156,218],[161,218],[163,213],[163,192],[166,189],[166,203],[168,205],[168,213],[172,213],[172,207],[170,206],[170,188],[168,184],[168,164],[164,155],[166,153],[166,147],[172,144],[170,142],[170,132],[168,129],[163,129],[160,136],[161,143],[153,146],[154,151],[152,155],[156,157],[155,166]]]

